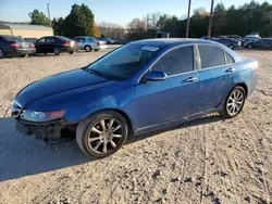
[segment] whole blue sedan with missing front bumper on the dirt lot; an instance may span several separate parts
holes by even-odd
[[[104,157],[128,137],[213,112],[237,116],[257,80],[258,62],[221,43],[140,40],[28,85],[12,115],[25,135],[50,141],[74,132],[84,153]]]

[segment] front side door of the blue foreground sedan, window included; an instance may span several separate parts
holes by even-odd
[[[136,87],[137,128],[196,113],[199,74],[194,47],[178,47],[165,53],[151,71],[162,71],[162,81],[140,82]]]

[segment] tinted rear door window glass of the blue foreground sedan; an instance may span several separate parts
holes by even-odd
[[[210,68],[225,64],[224,51],[221,48],[199,44],[198,50],[201,59],[201,68]]]

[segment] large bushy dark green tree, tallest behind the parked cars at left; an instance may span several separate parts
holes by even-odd
[[[94,18],[95,16],[87,5],[74,4],[63,22],[63,33],[67,37],[94,36]]]

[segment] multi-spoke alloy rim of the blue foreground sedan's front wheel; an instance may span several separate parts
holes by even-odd
[[[88,144],[94,152],[106,154],[118,146],[122,137],[121,123],[116,118],[104,118],[91,127]]]

